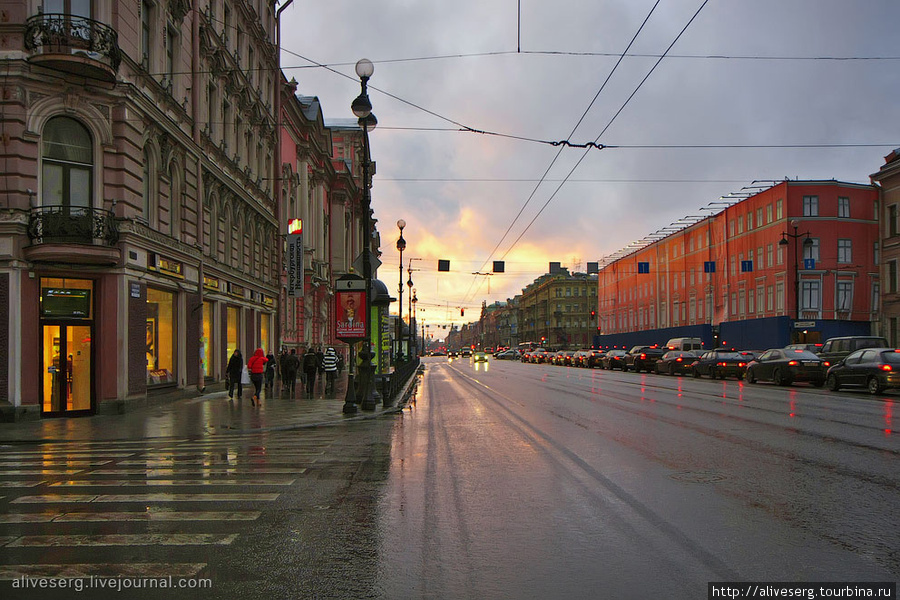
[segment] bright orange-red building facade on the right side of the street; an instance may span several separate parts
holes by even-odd
[[[870,185],[784,181],[636,249],[600,272],[599,341],[779,317],[789,331],[766,345],[818,341],[831,322],[867,329],[878,309],[877,203]]]

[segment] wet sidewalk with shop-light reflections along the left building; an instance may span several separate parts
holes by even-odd
[[[93,440],[143,440],[150,438],[196,438],[209,435],[283,431],[322,427],[372,419],[403,410],[403,406],[376,406],[374,411],[358,410],[344,415],[347,378],[342,377],[335,391],[324,398],[317,382],[314,398],[304,398],[297,382],[295,398],[279,397],[279,385],[273,397],[263,392],[259,406],[251,406],[253,386],[244,386],[243,399],[228,400],[225,391],[210,392],[195,398],[137,409],[121,415],[93,415],[0,423],[0,445],[22,442],[71,442]],[[358,407],[357,407],[358,408]]]

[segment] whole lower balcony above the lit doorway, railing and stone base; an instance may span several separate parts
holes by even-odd
[[[69,206],[31,209],[25,258],[76,264],[119,262],[119,228],[108,210]]]

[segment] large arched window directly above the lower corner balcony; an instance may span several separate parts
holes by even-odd
[[[90,208],[94,144],[87,128],[69,117],[53,117],[44,127],[41,204]]]

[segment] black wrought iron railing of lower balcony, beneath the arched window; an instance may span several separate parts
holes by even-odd
[[[28,237],[32,244],[114,246],[119,241],[115,215],[108,210],[74,206],[31,209]]]

